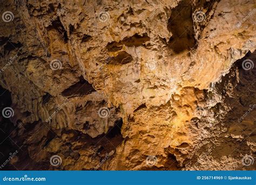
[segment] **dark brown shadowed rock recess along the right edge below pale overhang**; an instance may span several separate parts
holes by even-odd
[[[241,160],[242,156],[252,152],[249,143],[256,142],[256,66],[254,61],[256,61],[256,52],[248,52],[244,58],[235,61],[230,72],[216,85],[216,90],[223,95],[224,104],[231,108],[221,122],[227,128],[227,133],[232,135],[232,138],[222,137],[214,141],[212,157],[217,160],[223,156],[232,156],[234,159]],[[225,109],[222,106],[219,105],[216,111]],[[255,169],[255,167],[256,164],[247,169]]]

